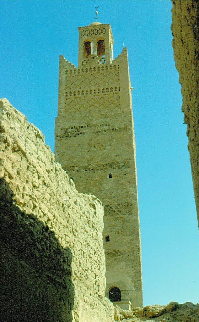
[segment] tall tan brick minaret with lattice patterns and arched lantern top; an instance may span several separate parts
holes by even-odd
[[[94,22],[78,31],[78,67],[60,56],[55,156],[79,192],[91,192],[103,201],[105,296],[123,308],[129,308],[129,302],[142,306],[127,48],[113,60],[110,24]],[[84,247],[89,240],[82,241],[83,251]]]

